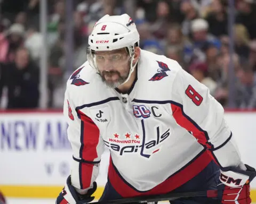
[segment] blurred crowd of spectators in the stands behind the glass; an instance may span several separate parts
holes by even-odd
[[[230,10],[228,0],[73,0],[68,16],[66,1],[48,0],[47,45],[43,45],[39,0],[0,1],[1,107],[38,107],[39,62],[46,46],[47,106],[61,108],[67,73],[86,61],[87,38],[95,22],[105,14],[127,12],[137,24],[142,49],[177,60],[224,107],[231,94],[235,108],[256,108],[256,3],[234,2],[235,9]],[[66,37],[68,21],[73,27],[71,44]],[[68,45],[73,45],[71,58]],[[67,67],[68,60],[73,66]]]

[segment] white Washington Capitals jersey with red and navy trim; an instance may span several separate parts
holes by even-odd
[[[69,78],[65,94],[71,182],[89,188],[105,146],[111,155],[108,179],[123,197],[170,192],[211,160],[238,166],[223,112],[209,89],[165,56],[141,50],[127,94],[107,87],[85,62]]]

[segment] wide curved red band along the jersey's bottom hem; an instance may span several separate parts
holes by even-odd
[[[153,194],[163,194],[177,189],[179,186],[185,184],[189,180],[193,179],[197,174],[199,174],[210,162],[210,156],[206,151],[199,155],[195,160],[183,168],[178,173],[172,175],[166,179],[161,184],[158,184],[153,189],[146,192],[138,192],[132,186],[124,181],[121,175],[116,171],[110,157],[110,164],[108,168],[108,178],[111,185],[122,197],[134,197],[134,196],[146,196]]]

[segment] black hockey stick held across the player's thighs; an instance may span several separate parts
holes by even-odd
[[[178,198],[190,198],[190,197],[207,197],[216,198],[218,195],[217,190],[197,191],[197,192],[181,192],[181,193],[166,193],[161,195],[152,196],[138,196],[132,198],[121,198],[116,200],[106,200],[93,202],[94,204],[121,204],[121,203],[147,203],[147,202],[158,202],[166,200],[176,200]],[[214,202],[220,203],[220,201]]]

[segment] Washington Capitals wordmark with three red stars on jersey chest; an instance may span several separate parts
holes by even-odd
[[[151,155],[155,154],[161,149],[161,143],[166,140],[170,136],[170,129],[165,130],[164,132],[160,133],[159,126],[156,128],[156,139],[145,141],[146,135],[142,135],[142,141],[139,140],[140,136],[139,134],[135,134],[134,137],[131,137],[131,134],[126,133],[125,137],[126,139],[129,136],[129,139],[122,140],[120,139],[120,135],[115,133],[114,139],[109,138],[109,141],[103,140],[105,142],[105,145],[110,149],[118,152],[120,156],[124,154],[134,154],[139,153],[140,156],[145,158],[150,158]],[[129,144],[127,146],[123,144]],[[141,143],[141,145],[140,145]],[[138,154],[137,153],[137,154]]]

